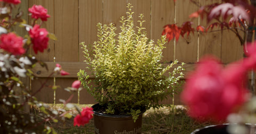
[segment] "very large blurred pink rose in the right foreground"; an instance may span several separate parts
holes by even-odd
[[[208,57],[189,75],[181,99],[188,105],[191,117],[223,121],[246,101],[243,81],[246,81],[246,69],[242,62],[224,69],[220,61]]]

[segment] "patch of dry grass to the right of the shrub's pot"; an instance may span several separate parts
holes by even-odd
[[[210,125],[199,123],[188,117],[183,106],[167,106],[159,110],[147,111],[143,117],[143,133],[191,133],[197,128]]]

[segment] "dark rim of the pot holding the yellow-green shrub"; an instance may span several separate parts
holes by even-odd
[[[132,117],[132,115],[130,115],[130,114],[117,115],[117,114],[99,113],[97,111],[94,111],[94,108],[98,108],[99,106],[100,106],[100,104],[97,103],[97,104],[92,105],[92,108],[93,108],[93,114],[98,115],[100,117],[112,117],[112,118],[130,118],[130,117]],[[142,107],[141,113],[139,115],[143,114],[144,112],[146,112],[146,108]]]

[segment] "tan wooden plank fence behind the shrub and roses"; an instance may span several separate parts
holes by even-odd
[[[199,1],[199,0],[198,0]],[[209,4],[212,1],[200,1],[201,4]],[[49,32],[54,33],[57,41],[50,41],[49,49],[44,53],[39,53],[37,57],[49,66],[49,72],[36,67],[38,78],[31,82],[31,90],[35,91],[41,86],[41,82],[46,80],[56,63],[61,64],[63,70],[70,73],[69,76],[51,77],[47,85],[59,85],[56,92],[52,88],[45,87],[37,95],[38,100],[46,103],[56,103],[59,99],[67,99],[69,93],[63,88],[71,86],[77,80],[77,72],[84,69],[83,55],[79,42],[92,44],[97,40],[97,23],[108,24],[113,22],[119,28],[119,18],[126,15],[126,4],[131,3],[135,12],[133,18],[137,22],[137,16],[144,14],[145,28],[148,38],[160,39],[163,26],[177,23],[181,25],[185,21],[190,21],[189,14],[197,10],[197,6],[191,4],[189,0],[22,0],[22,8],[32,5],[42,5],[47,8],[51,15],[50,19],[43,24]],[[25,16],[27,17],[27,16]],[[193,20],[194,24],[204,24],[204,20]],[[195,33],[188,38],[180,38],[178,42],[171,41],[166,44],[163,51],[163,62],[178,59],[186,62],[186,72],[193,69],[193,64],[205,54],[213,54],[219,57],[223,63],[228,63],[243,57],[243,49],[239,40],[231,31],[210,32],[207,34]],[[186,74],[185,72],[185,74]],[[143,95],[143,94],[142,94]],[[71,102],[77,103],[78,95]],[[85,90],[79,93],[79,102],[83,104],[95,103],[93,97]],[[172,103],[171,99],[163,103]],[[180,104],[179,100],[175,101]]]

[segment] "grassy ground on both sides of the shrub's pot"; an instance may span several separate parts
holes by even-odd
[[[90,105],[78,105],[79,108]],[[58,105],[57,107],[58,108]],[[189,134],[197,128],[210,125],[208,123],[199,123],[186,114],[186,108],[182,105],[165,106],[161,109],[150,109],[143,114],[142,119],[142,134],[149,133],[170,133],[170,134]],[[65,123],[51,123],[51,126],[57,133],[79,133],[79,134],[92,134],[94,133],[93,119],[83,127],[74,127],[73,119],[66,120]]]

